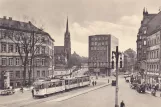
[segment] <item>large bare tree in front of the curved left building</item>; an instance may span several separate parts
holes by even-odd
[[[26,72],[28,68],[28,59],[34,58],[34,53],[36,52],[37,48],[35,45],[41,45],[42,42],[40,38],[36,36],[37,31],[30,30],[30,31],[16,31],[13,30],[6,30],[8,38],[10,38],[16,45],[16,49],[19,53],[22,67],[23,67],[23,85],[26,83]],[[13,37],[14,36],[14,37]],[[32,62],[32,61],[31,61]],[[32,62],[33,64],[33,62]],[[29,81],[31,76],[31,71],[28,70],[29,73]]]

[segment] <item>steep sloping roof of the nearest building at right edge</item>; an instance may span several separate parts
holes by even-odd
[[[148,23],[147,33],[150,35],[153,31],[161,28],[161,12],[159,12],[152,20]]]

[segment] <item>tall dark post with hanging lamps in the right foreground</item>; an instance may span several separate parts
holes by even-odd
[[[116,46],[116,51],[112,51],[112,68],[114,68],[114,56],[116,58],[116,92],[115,92],[115,107],[119,107],[118,105],[118,60],[120,52],[118,52],[118,46]],[[122,68],[122,58],[120,57],[120,68]]]

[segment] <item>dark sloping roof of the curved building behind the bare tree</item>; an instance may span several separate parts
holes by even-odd
[[[51,38],[51,36],[47,32],[44,32],[43,30],[37,28],[30,21],[27,23],[27,22],[12,20],[11,17],[9,17],[9,19],[6,19],[6,17],[4,17],[4,18],[0,18],[0,28],[23,31],[23,32],[36,32],[36,33],[45,34],[49,36],[49,38],[53,42],[55,42],[55,40]]]

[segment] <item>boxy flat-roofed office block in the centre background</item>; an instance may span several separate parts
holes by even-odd
[[[88,64],[90,73],[111,75],[112,51],[116,51],[118,39],[110,34],[89,36]]]

